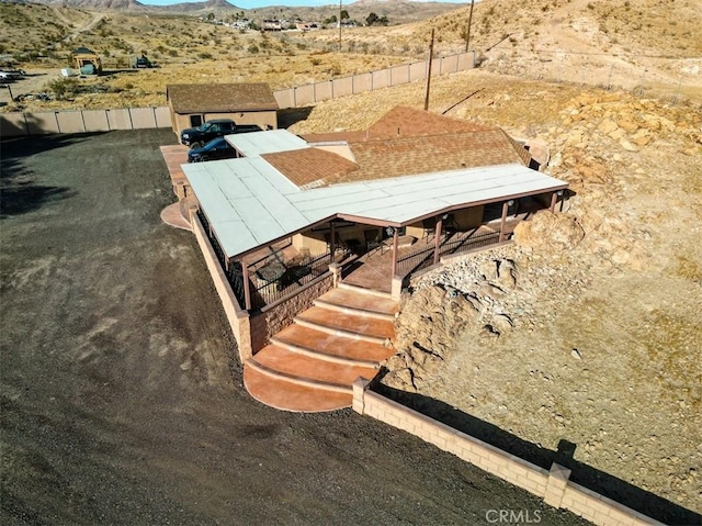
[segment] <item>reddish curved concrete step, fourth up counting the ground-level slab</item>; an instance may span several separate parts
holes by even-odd
[[[382,345],[395,335],[395,326],[390,321],[336,312],[319,306],[313,306],[299,313],[295,316],[295,323],[328,334],[363,339]]]

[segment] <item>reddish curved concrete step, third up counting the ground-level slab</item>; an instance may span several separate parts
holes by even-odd
[[[299,324],[285,327],[271,338],[271,343],[292,352],[306,354],[325,361],[374,368],[394,354],[392,347],[340,337]]]

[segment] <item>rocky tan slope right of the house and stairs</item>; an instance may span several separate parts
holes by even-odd
[[[576,461],[701,513],[702,111],[595,90],[544,111],[531,134],[575,194],[514,245],[418,279],[384,383],[551,450],[568,440]]]

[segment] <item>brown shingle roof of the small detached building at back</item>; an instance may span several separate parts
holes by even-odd
[[[176,113],[278,110],[264,82],[170,85],[166,98]]]

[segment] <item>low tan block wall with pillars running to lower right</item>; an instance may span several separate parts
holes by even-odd
[[[369,384],[363,378],[353,383],[353,411],[411,433],[443,451],[543,497],[550,506],[569,510],[600,526],[663,526],[663,523],[569,482],[570,470],[563,466],[554,463],[551,471],[546,471],[370,391]]]

